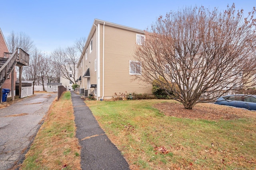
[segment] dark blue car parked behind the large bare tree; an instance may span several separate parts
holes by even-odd
[[[227,95],[218,98],[218,105],[241,107],[248,110],[256,110],[256,95]]]

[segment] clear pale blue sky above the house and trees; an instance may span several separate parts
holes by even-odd
[[[87,38],[95,18],[144,30],[185,6],[225,10],[233,2],[246,13],[256,6],[255,0],[0,0],[0,28],[6,39],[12,31],[24,32],[50,54]]]

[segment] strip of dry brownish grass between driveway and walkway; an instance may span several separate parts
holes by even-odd
[[[71,95],[66,92],[50,107],[21,170],[81,169],[80,145],[75,135]]]

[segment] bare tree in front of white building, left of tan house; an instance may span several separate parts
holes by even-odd
[[[69,79],[75,84],[76,79],[76,65],[79,57],[77,55],[75,47],[58,48],[52,52],[52,58],[58,67],[58,73],[60,76]],[[70,76],[70,73],[72,76]]]

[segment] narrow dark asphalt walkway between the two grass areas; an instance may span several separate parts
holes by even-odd
[[[83,170],[129,170],[121,152],[109,140],[84,101],[71,91],[74,108],[76,137],[81,149]]]

